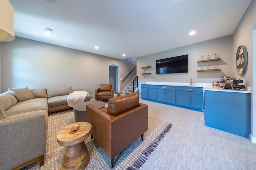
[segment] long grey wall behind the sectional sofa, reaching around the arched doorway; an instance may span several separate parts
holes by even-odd
[[[109,83],[109,66],[120,67],[120,78],[129,72],[128,61],[42,43],[20,37],[1,43],[2,92],[8,88],[72,86],[95,93]]]

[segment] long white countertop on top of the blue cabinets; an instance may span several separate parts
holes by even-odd
[[[141,84],[154,84],[154,85],[166,85],[166,86],[190,86],[190,87],[202,87],[203,90],[219,91],[219,92],[235,92],[235,93],[252,93],[252,88],[246,87],[245,90],[229,90],[212,86],[212,83],[178,83],[178,82],[146,82]]]

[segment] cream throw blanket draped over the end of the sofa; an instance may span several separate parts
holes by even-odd
[[[68,106],[74,107],[76,104],[84,102],[87,94],[86,91],[74,91],[68,95]]]

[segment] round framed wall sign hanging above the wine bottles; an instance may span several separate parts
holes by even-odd
[[[240,45],[236,51],[236,72],[239,76],[245,74],[248,65],[248,52],[245,45]],[[240,72],[242,70],[242,73]]]

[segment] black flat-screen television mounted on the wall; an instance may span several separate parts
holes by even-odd
[[[188,55],[156,60],[156,74],[188,72]]]

